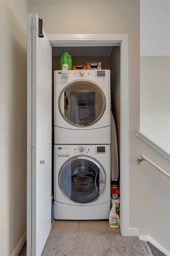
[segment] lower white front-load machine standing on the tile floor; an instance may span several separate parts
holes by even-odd
[[[54,218],[108,219],[110,145],[54,146]]]

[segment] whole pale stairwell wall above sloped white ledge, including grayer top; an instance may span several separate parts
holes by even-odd
[[[140,131],[170,153],[170,1],[140,1]]]

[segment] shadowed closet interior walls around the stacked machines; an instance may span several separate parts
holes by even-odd
[[[95,46],[95,47],[53,47],[52,48],[52,194],[54,194],[54,71],[60,70],[60,56],[63,49],[66,48],[67,52],[72,57],[72,65],[87,65],[87,62],[101,62],[102,70],[110,70],[110,98],[111,98],[111,111],[113,114],[116,132],[111,133],[111,136],[116,136],[117,150],[118,150],[118,163],[115,178],[119,185],[119,152],[120,152],[120,46]],[[111,138],[111,143],[113,138]],[[114,154],[111,152],[111,159],[113,160]],[[115,161],[114,161],[115,168]],[[112,166],[111,166],[112,168]],[[112,170],[111,170],[112,172]],[[110,177],[111,181],[111,177]],[[112,184],[114,182],[112,181]],[[121,193],[121,191],[120,191]],[[95,218],[94,218],[95,219]],[[55,221],[54,221],[55,222]],[[94,222],[94,221],[91,221]],[[57,224],[59,225],[59,224]],[[112,228],[113,229],[113,228]]]

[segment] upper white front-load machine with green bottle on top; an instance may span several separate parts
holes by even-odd
[[[55,144],[110,144],[110,70],[54,73]]]

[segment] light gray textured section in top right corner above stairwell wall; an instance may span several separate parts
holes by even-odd
[[[169,0],[140,0],[140,55],[170,55]]]

